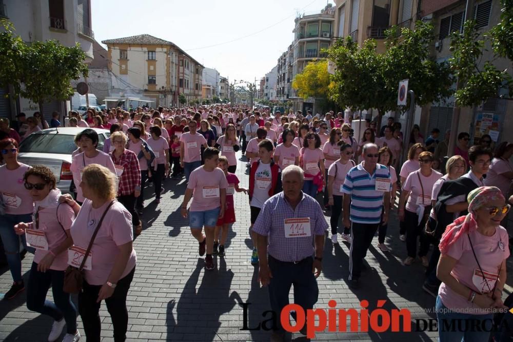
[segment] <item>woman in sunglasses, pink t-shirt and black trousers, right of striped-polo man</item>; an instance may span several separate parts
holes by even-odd
[[[403,264],[409,266],[415,260],[417,256],[417,236],[420,236],[419,257],[422,260],[422,266],[428,267],[429,260],[426,254],[429,250],[429,241],[422,230],[431,210],[433,186],[442,177],[442,174],[431,169],[433,164],[431,152],[422,152],[419,155],[419,164],[420,169],[410,173],[403,184],[403,191],[399,200],[399,219],[404,222],[406,227],[408,257]],[[408,202],[406,202],[406,197],[408,197]]]

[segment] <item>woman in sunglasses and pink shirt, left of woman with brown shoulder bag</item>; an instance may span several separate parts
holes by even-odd
[[[80,339],[76,329],[76,308],[69,293],[63,291],[64,271],[68,267],[68,248],[73,245],[69,229],[80,207],[59,203],[61,191],[55,187],[53,172],[36,165],[23,176],[25,188],[34,200],[31,219],[14,226],[16,234],[25,236],[36,249],[27,285],[27,308],[54,319],[49,341],[61,336],[64,342]],[[52,287],[52,303],[46,300]]]

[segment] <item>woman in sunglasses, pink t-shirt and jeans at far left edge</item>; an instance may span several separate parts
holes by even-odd
[[[13,279],[12,287],[4,295],[5,299],[12,299],[25,289],[22,278],[22,260],[19,256],[19,238],[14,232],[14,225],[20,222],[30,222],[34,202],[29,191],[24,187],[23,175],[30,166],[19,163],[18,143],[14,139],[0,141],[0,160],[5,164],[0,166],[0,193],[2,205],[0,206],[0,236],[4,244],[7,264]],[[22,243],[27,249],[25,236]],[[32,251],[32,248],[27,250]]]

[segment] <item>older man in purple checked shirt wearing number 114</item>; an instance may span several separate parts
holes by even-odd
[[[257,233],[260,282],[262,286],[269,285],[271,309],[278,317],[289,304],[292,285],[294,304],[305,311],[313,308],[319,296],[316,278],[322,270],[328,223],[319,203],[301,190],[303,182],[300,167],[286,167],[282,172],[283,192],[266,200],[253,226]],[[272,340],[283,337],[280,327]]]

